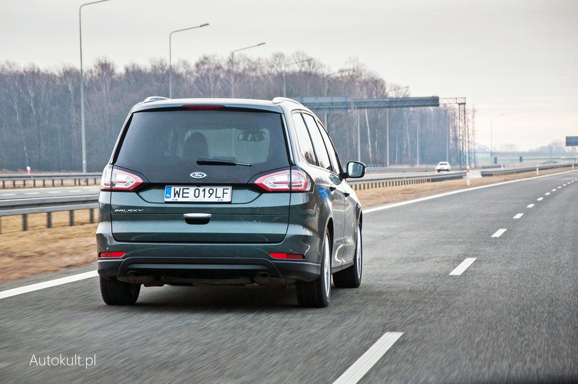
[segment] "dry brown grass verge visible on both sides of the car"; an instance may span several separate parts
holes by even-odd
[[[544,170],[540,171],[540,175],[560,171]],[[535,177],[535,172],[472,179],[471,185],[529,177]],[[465,180],[449,180],[365,189],[356,193],[362,206],[370,207],[462,188],[466,188]],[[46,229],[46,214],[34,214],[28,215],[29,231],[22,232],[20,216],[3,217],[0,282],[94,262],[97,258],[94,236],[97,226],[88,222],[88,210],[75,212],[75,226],[68,226],[68,212],[55,212],[53,228]]]

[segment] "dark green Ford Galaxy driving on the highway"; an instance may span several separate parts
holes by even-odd
[[[288,98],[147,98],[102,175],[98,273],[107,304],[140,286],[295,284],[327,306],[361,283],[361,206],[317,117]]]

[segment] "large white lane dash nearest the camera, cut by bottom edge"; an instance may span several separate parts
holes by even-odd
[[[333,384],[355,384],[373,367],[381,356],[403,335],[403,332],[386,332],[361,355]]]

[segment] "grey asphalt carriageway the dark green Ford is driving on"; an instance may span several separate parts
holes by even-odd
[[[0,382],[333,383],[387,332],[403,334],[360,383],[578,381],[573,180],[365,211],[362,286],[335,289],[324,309],[254,286],[143,288],[135,306],[110,307],[95,277],[2,298]],[[30,364],[60,354],[96,365]]]

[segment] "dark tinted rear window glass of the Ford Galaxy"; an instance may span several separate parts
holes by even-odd
[[[225,173],[235,169],[241,179],[287,166],[281,114],[226,109],[135,112],[115,164],[138,171],[149,181],[164,181],[166,173],[202,170],[199,159],[250,164],[205,161],[209,165],[204,167],[217,169],[213,174],[226,167]]]

